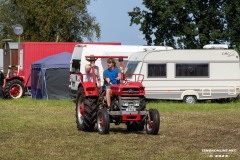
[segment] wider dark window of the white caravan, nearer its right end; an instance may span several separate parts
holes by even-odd
[[[208,77],[209,64],[176,64],[176,77]]]

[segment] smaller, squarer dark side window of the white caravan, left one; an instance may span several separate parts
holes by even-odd
[[[148,77],[166,77],[166,64],[148,64]]]

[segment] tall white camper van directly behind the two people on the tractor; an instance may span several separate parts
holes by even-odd
[[[85,56],[130,56],[134,52],[144,50],[171,50],[172,47],[165,46],[134,46],[134,45],[94,45],[79,44],[74,47],[72,59],[70,62],[70,96],[76,97],[80,83],[79,73],[85,73],[85,66],[90,64]],[[124,66],[128,59],[124,59]],[[118,61],[117,66],[119,66]],[[107,69],[107,59],[97,59],[95,65],[99,67],[101,84],[103,84],[103,71]]]

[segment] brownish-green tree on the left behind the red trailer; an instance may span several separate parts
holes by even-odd
[[[23,26],[24,41],[100,38],[100,26],[87,12],[89,4],[90,0],[0,0],[0,38],[14,37],[14,24]]]

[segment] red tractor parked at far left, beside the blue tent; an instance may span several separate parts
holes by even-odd
[[[9,66],[4,88],[5,98],[21,98],[25,93],[24,76],[19,66]]]

